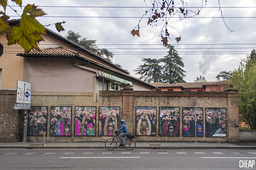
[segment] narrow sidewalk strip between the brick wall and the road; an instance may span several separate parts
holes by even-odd
[[[105,148],[104,142],[9,142],[0,143],[1,148]],[[147,149],[186,149],[186,148],[226,148],[256,149],[256,142],[214,143],[214,142],[137,142],[136,148]]]

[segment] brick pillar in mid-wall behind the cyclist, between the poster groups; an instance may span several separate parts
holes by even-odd
[[[135,120],[135,115],[133,114],[133,88],[130,87],[130,84],[127,84],[123,88],[122,92],[123,97],[123,117],[125,119],[126,126],[128,128],[129,134],[135,134],[135,122],[130,120]]]

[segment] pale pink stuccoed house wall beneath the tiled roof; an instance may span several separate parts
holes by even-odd
[[[68,58],[24,58],[23,81],[33,92],[93,92],[95,72],[73,66]]]

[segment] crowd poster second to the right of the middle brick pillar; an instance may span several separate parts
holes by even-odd
[[[159,136],[180,136],[180,108],[159,108]]]

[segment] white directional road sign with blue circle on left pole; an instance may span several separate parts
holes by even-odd
[[[17,80],[16,103],[31,104],[31,83]]]

